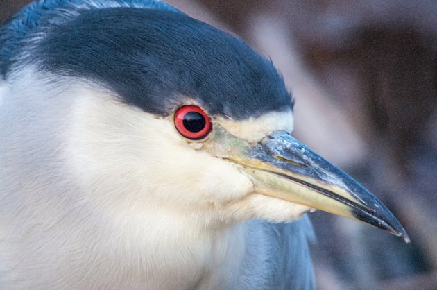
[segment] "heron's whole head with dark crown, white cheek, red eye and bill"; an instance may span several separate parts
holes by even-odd
[[[408,239],[375,196],[291,135],[284,80],[238,37],[173,9],[61,14],[2,67],[11,102],[31,103],[24,118],[55,144],[29,150],[57,160],[50,170],[74,181],[74,198],[211,228],[318,209]]]

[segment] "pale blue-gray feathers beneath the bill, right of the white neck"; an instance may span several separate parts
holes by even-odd
[[[314,289],[307,215],[292,223],[248,222],[246,258],[234,289]]]

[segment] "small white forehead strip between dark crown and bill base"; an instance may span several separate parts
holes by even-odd
[[[259,142],[266,135],[284,130],[288,133],[293,132],[293,112],[268,112],[258,118],[235,121],[232,119],[218,118],[215,121],[226,128],[232,135],[241,139],[246,139],[250,143]]]

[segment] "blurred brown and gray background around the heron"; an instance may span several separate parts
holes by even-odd
[[[28,2],[0,0],[0,22]],[[409,232],[404,244],[311,214],[318,289],[437,289],[437,2],[168,2],[272,58],[296,99],[295,135]]]

